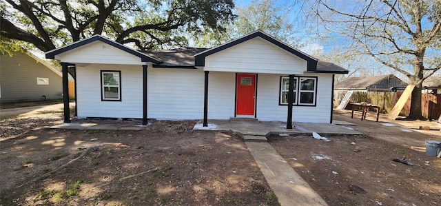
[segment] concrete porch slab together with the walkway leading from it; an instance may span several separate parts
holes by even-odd
[[[267,136],[305,135],[313,136],[313,132],[320,135],[362,134],[353,130],[351,125],[344,121],[330,123],[293,123],[293,129],[286,129],[283,122],[259,121],[221,121],[211,120],[208,127],[202,123],[194,126],[194,130],[233,131],[243,134],[243,139],[249,152],[254,157],[260,171],[262,171],[269,187],[276,194],[280,205],[327,205],[308,183],[304,181],[285,159],[269,145]],[[324,138],[326,139],[326,138]]]

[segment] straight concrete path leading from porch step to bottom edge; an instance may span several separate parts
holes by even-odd
[[[269,143],[245,144],[280,205],[327,205]]]

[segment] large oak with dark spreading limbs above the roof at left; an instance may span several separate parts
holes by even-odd
[[[185,32],[225,31],[232,0],[4,0],[1,41],[30,43],[43,52],[103,34],[139,50],[186,45]]]

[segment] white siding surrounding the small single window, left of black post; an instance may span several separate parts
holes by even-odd
[[[121,101],[101,101],[101,70],[121,71]],[[76,102],[79,117],[142,118],[141,65],[92,64],[76,66]]]

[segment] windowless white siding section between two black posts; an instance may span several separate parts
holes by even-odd
[[[147,76],[148,118],[203,119],[204,73],[201,70],[154,68],[148,70]]]

